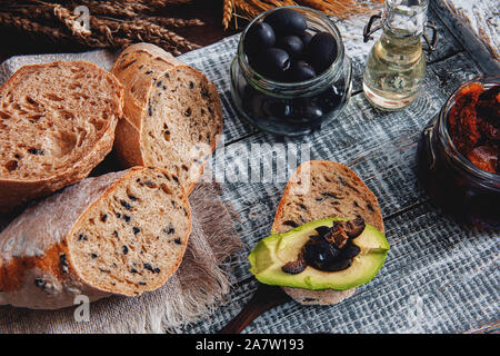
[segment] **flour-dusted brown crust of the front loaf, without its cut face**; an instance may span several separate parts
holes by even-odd
[[[191,231],[191,211],[183,190],[180,190],[181,200],[177,201],[178,206],[186,208],[186,221],[189,224],[186,236],[179,239],[182,253],[169,270],[161,271],[161,278],[141,288],[140,293],[118,293],[86,280],[78,271],[69,241],[83,226],[87,211],[108,199],[138,171],[149,169],[152,168],[136,167],[84,179],[28,208],[14,219],[0,234],[0,305],[58,309],[72,306],[79,295],[93,301],[111,294],[136,296],[163,285],[179,267]]]

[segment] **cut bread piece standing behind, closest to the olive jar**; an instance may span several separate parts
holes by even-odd
[[[216,86],[200,71],[150,43],[128,47],[112,73],[124,87],[124,120],[114,142],[126,167],[176,172],[189,194],[222,131]]]

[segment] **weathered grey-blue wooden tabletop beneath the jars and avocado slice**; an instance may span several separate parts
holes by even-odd
[[[349,166],[378,196],[391,251],[376,279],[358,288],[350,299],[329,307],[291,301],[263,314],[243,333],[498,330],[498,234],[459,226],[430,201],[416,177],[417,142],[423,127],[460,83],[488,75],[443,24],[440,11],[431,9],[429,13],[439,29],[440,42],[428,57],[422,93],[399,112],[374,109],[361,91],[366,56],[373,44],[362,42],[363,21],[338,23],[353,61],[352,98],[334,122],[302,138],[258,131],[236,112],[229,65],[238,37],[182,56],[184,61],[202,69],[221,95],[224,141],[214,156],[212,169],[219,172],[219,178],[223,177],[224,198],[240,215],[238,231],[244,243],[244,250],[232,261],[236,284],[227,303],[210,318],[186,327],[186,333],[219,330],[254,294],[258,284],[248,271],[246,257],[259,239],[268,236],[286,181],[294,168],[277,170],[272,157],[281,157],[282,148],[290,152],[303,145],[309,145],[311,159]],[[249,159],[254,147],[261,154]],[[252,184],[244,177],[256,159],[268,159],[261,168],[268,172],[272,169],[272,181]]]

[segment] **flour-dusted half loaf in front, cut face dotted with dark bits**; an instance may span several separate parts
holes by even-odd
[[[87,178],[0,234],[0,305],[57,309],[80,295],[153,290],[177,270],[190,231],[176,175],[137,167]]]

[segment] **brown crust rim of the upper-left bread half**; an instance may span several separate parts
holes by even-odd
[[[24,66],[19,69],[9,80],[0,88],[0,101],[2,96],[9,91],[16,90],[13,83],[19,81],[26,72],[33,70],[43,71],[47,66],[57,66],[64,70],[67,67],[78,65],[84,70],[99,72],[107,77],[109,82],[116,88],[116,96],[108,98],[113,101],[116,107],[114,115],[111,115],[104,127],[102,128],[101,137],[94,142],[92,148],[88,149],[84,157],[74,161],[71,166],[64,169],[57,170],[50,176],[43,177],[43,172],[36,179],[31,178],[10,178],[8,176],[0,176],[0,211],[10,211],[22,204],[39,197],[50,195],[66,186],[72,185],[86,178],[90,171],[111,151],[114,140],[114,129],[119,117],[122,116],[123,107],[123,88],[121,83],[106,70],[100,67],[84,61],[67,62],[58,61],[49,65],[33,65]],[[23,79],[24,80],[24,79]],[[63,92],[61,95],[64,95]],[[1,108],[0,108],[1,110]],[[20,142],[22,145],[22,142]],[[0,162],[4,164],[4,162]]]

